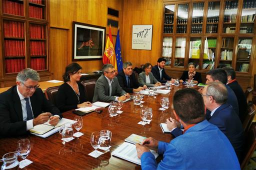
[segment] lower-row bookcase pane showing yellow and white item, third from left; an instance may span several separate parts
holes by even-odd
[[[195,68],[198,68],[199,58],[200,58],[200,47],[201,47],[201,38],[200,37],[191,37],[189,42],[189,56],[188,62],[193,62]]]

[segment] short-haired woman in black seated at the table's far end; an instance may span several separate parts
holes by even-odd
[[[188,63],[188,71],[183,71],[179,82],[183,82],[186,79],[193,80],[194,83],[202,82],[201,73],[195,71],[195,65],[193,62]]]

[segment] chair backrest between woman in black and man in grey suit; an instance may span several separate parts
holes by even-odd
[[[81,81],[81,84],[84,86],[86,100],[92,102],[96,80],[95,79],[83,80]]]

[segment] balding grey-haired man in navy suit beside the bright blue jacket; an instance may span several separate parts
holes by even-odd
[[[221,82],[211,82],[202,90],[205,107],[209,110],[205,118],[215,124],[229,139],[238,159],[243,150],[243,128],[238,115],[234,112],[231,105],[226,103],[227,89]],[[182,134],[176,128],[178,122],[174,119],[167,119],[167,128],[171,130],[173,136]]]

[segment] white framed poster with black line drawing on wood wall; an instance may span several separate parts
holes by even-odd
[[[132,49],[151,50],[153,25],[132,25]]]

